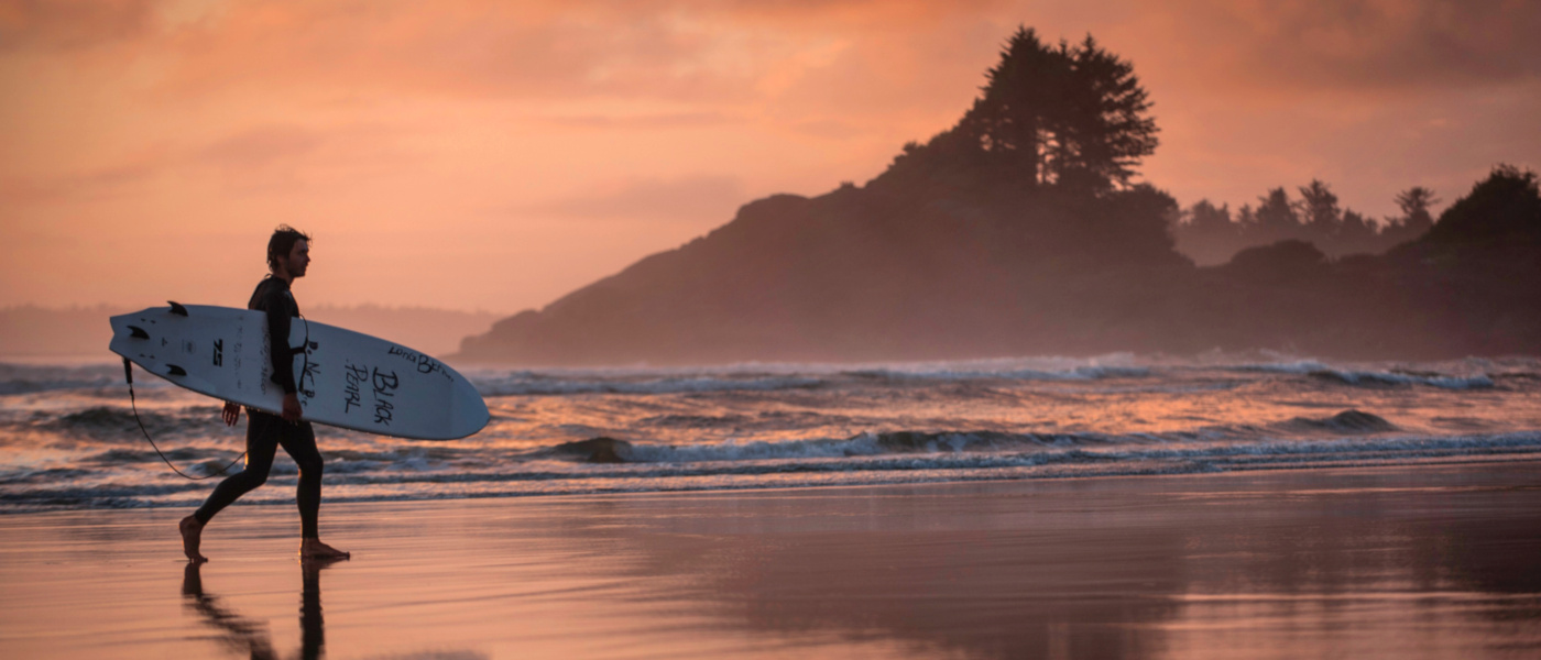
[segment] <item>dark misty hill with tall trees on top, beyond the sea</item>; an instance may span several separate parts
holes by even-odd
[[[1133,66],[1019,31],[951,129],[863,186],[774,195],[678,249],[467,337],[522,365],[918,360],[1279,348],[1427,358],[1541,351],[1541,197],[1495,169],[1385,257],[1304,242],[1196,268]],[[1496,260],[1495,260],[1496,258]],[[1516,280],[1518,278],[1518,280]]]

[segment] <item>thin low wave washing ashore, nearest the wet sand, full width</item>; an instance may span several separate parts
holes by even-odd
[[[632,446],[638,449],[640,446]],[[726,491],[828,485],[901,485],[1176,475],[1256,469],[1392,466],[1439,460],[1502,460],[1541,454],[1541,432],[1456,437],[1381,437],[1220,445],[1062,446],[1009,452],[928,452],[804,460],[669,462],[619,465],[525,463],[481,471],[368,471],[328,475],[328,502],[433,500],[539,494]],[[243,502],[291,506],[293,474]],[[206,485],[11,482],[0,511],[46,508],[190,506]],[[14,486],[14,488],[12,488]]]

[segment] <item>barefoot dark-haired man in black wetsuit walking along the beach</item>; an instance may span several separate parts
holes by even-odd
[[[310,266],[310,237],[279,225],[268,238],[268,269],[271,274],[257,283],[247,309],[268,315],[268,348],[273,357],[273,383],[284,388],[282,415],[247,408],[247,468],[227,477],[208,495],[193,515],[182,518],[182,551],[190,562],[208,562],[199,552],[203,526],[225,506],[268,480],[273,457],[282,445],[284,451],[299,465],[300,543],[299,554],[305,558],[347,558],[348,552],[321,542],[317,517],[321,514],[321,451],[316,449],[316,431],[300,418],[299,388],[294,383],[294,352],[290,349],[290,318],[299,317],[299,305],[290,286],[296,277],[305,277]],[[304,348],[300,348],[304,349]],[[240,406],[225,403],[220,412],[225,425],[240,420]]]

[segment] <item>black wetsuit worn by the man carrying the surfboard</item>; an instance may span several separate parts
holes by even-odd
[[[294,354],[288,346],[290,318],[299,317],[299,305],[290,294],[288,282],[268,277],[257,285],[251,294],[247,309],[257,309],[268,314],[268,352],[273,355],[273,383],[284,389],[284,394],[296,392],[294,386]],[[319,538],[316,517],[321,511],[321,451],[316,449],[316,431],[310,422],[284,422],[282,417],[247,408],[247,469],[219,482],[214,492],[208,495],[193,515],[200,523],[208,523],[220,509],[230,506],[240,495],[264,485],[268,471],[273,468],[273,455],[279,445],[299,465],[299,502],[300,535],[304,538]]]

